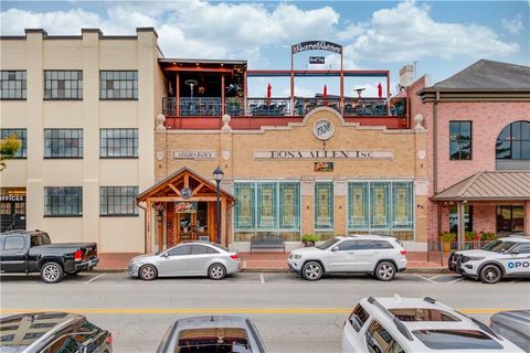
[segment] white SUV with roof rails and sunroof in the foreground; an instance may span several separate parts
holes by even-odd
[[[346,320],[348,353],[522,352],[476,319],[432,298],[363,298]]]

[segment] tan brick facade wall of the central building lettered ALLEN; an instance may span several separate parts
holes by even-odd
[[[326,118],[335,126],[335,135],[326,150],[392,151],[392,159],[255,159],[254,151],[266,150],[322,150],[322,141],[312,133],[314,124]],[[301,124],[289,127],[266,127],[262,130],[167,130],[156,132],[156,151],[165,158],[157,162],[156,178],[162,179],[182,167],[188,167],[211,179],[219,164],[225,175],[223,185],[233,189],[239,180],[299,180],[301,181],[301,233],[314,233],[314,185],[328,180],[335,186],[335,234],[347,234],[347,182],[352,180],[407,180],[414,181],[415,239],[414,248],[426,243],[427,165],[420,159],[425,152],[426,131],[386,130],[383,127],[359,127],[347,124],[330,108],[312,110]],[[212,160],[177,160],[176,150],[214,150]],[[230,154],[230,158],[224,158]],[[315,172],[316,161],[335,162],[333,172]],[[233,235],[232,235],[233,238]]]

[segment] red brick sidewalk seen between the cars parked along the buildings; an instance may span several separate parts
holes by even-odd
[[[125,271],[129,260],[140,255],[138,253],[100,253],[99,264],[96,271]],[[427,253],[406,253],[407,271],[414,272],[443,272],[447,267],[447,255],[444,255],[444,267],[441,266],[439,253],[431,254],[427,261]],[[240,253],[242,269],[244,271],[276,272],[287,271],[287,257],[289,253]]]

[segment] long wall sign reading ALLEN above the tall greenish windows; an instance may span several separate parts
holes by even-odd
[[[254,151],[254,159],[392,159],[393,151],[351,151],[351,150],[277,150]]]

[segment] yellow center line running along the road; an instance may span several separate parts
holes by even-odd
[[[1,309],[1,314],[21,313],[21,312],[43,312],[61,311],[72,313],[92,313],[92,314],[348,314],[351,308],[254,308],[254,309],[222,309],[222,308],[60,308],[60,309]],[[499,311],[513,309],[460,309],[459,311],[468,314],[494,314]]]

